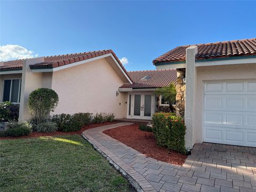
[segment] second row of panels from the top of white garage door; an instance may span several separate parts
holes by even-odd
[[[256,95],[205,95],[204,109],[215,111],[256,111]]]

